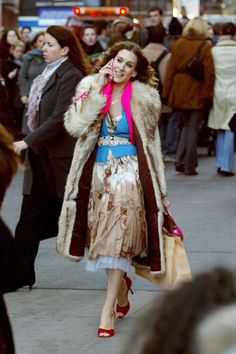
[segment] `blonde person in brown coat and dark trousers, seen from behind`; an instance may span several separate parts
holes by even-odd
[[[212,104],[214,64],[211,44],[205,41],[207,22],[195,17],[185,26],[183,35],[172,47],[166,72],[163,97],[168,105],[181,111],[182,131],[177,148],[176,170],[185,175],[197,175],[197,141],[204,111]],[[200,61],[204,67],[204,81],[187,71],[187,64],[200,48]]]

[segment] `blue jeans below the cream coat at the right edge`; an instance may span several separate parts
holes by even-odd
[[[230,130],[217,131],[216,164],[223,171],[233,172],[234,133]]]

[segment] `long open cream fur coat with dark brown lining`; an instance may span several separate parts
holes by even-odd
[[[97,78],[96,74],[90,75],[80,82],[65,114],[65,128],[77,138],[77,143],[59,219],[57,251],[77,261],[84,254],[92,167],[103,118],[100,111],[106,102],[95,88]],[[167,190],[158,132],[161,103],[157,90],[134,81],[130,107],[148,225],[148,257],[135,257],[133,264],[142,263],[160,275],[165,273],[162,198]]]

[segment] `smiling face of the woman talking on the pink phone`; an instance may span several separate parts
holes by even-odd
[[[135,77],[138,58],[127,49],[120,50],[114,58],[112,71],[115,83],[125,83]]]

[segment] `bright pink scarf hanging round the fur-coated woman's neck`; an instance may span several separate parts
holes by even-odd
[[[103,109],[101,110],[101,113],[107,113],[109,111],[110,105],[111,105],[111,96],[112,96],[112,83],[109,82],[104,89],[102,90],[102,93],[107,96],[107,102]],[[130,109],[130,99],[132,95],[132,83],[130,81],[127,82],[124,92],[121,97],[121,103],[124,108],[127,121],[128,121],[128,127],[129,127],[129,141],[131,143],[134,143],[133,139],[133,118],[132,118],[132,113]]]

